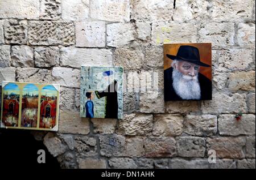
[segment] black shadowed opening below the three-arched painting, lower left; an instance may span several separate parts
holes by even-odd
[[[46,152],[46,163],[38,163],[38,150]],[[28,171],[34,168],[60,168],[57,158],[47,150],[43,141],[35,140],[30,131],[24,130],[0,130],[0,167],[15,167]],[[26,167],[25,165],[30,165]]]

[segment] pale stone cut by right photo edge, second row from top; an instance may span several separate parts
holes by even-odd
[[[239,23],[237,41],[241,46],[255,45],[255,23]]]

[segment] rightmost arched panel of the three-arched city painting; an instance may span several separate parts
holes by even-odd
[[[53,85],[46,85],[41,93],[40,128],[56,126],[58,91]]]

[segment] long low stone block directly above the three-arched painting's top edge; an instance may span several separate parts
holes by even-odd
[[[46,70],[43,68],[18,67],[16,69],[16,74],[18,82],[48,84],[53,82],[51,70]]]

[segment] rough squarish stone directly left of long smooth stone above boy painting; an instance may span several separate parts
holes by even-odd
[[[36,67],[54,67],[59,65],[60,52],[57,47],[36,47],[35,48]]]

